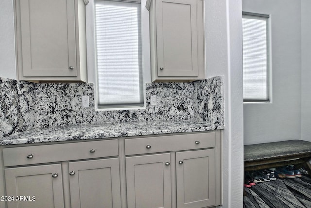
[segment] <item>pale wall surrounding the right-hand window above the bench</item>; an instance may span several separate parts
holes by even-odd
[[[301,1],[242,0],[242,10],[270,15],[272,67],[272,103],[244,104],[244,144],[300,139]]]

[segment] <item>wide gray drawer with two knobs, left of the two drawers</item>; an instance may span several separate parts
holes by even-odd
[[[49,163],[110,156],[118,156],[117,139],[3,149],[4,166]]]

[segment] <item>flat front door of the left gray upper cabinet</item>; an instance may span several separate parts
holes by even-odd
[[[16,0],[24,77],[77,76],[74,7],[74,0]]]

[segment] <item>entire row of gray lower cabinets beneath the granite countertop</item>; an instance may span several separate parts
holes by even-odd
[[[0,207],[206,208],[221,174],[220,131],[0,146]]]

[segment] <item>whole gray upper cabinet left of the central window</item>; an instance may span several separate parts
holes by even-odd
[[[86,82],[88,0],[14,2],[18,79]]]

